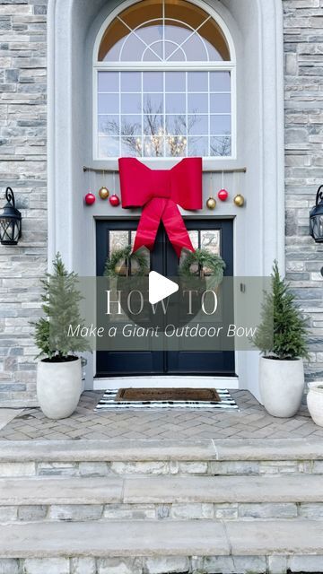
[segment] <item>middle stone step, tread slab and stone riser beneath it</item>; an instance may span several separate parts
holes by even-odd
[[[316,475],[0,479],[0,520],[323,519]]]

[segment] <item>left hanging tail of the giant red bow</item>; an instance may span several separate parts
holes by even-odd
[[[134,252],[142,247],[146,247],[152,251],[161,222],[164,203],[164,199],[155,197],[144,205],[143,213],[135,234]]]

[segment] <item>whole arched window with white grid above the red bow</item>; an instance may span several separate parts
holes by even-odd
[[[231,157],[235,66],[201,4],[142,0],[95,47],[95,159]]]

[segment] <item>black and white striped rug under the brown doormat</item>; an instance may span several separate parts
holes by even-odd
[[[94,411],[108,411],[109,409],[207,409],[225,411],[238,409],[238,404],[225,388],[216,389],[221,403],[215,401],[116,401],[118,389],[107,390]]]

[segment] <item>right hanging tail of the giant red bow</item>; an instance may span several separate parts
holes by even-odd
[[[179,212],[179,207],[171,200],[167,200],[162,212],[162,222],[177,257],[180,257],[183,248],[188,249],[188,251],[195,251],[184,220]]]

